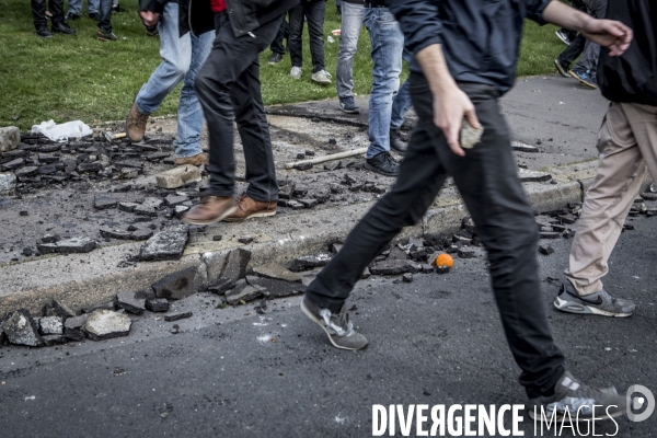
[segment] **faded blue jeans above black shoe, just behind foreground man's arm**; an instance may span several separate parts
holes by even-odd
[[[366,158],[390,151],[392,102],[400,89],[404,34],[388,8],[365,8],[365,26],[372,44],[372,91]]]

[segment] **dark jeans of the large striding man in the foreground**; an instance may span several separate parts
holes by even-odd
[[[321,308],[337,311],[365,267],[402,228],[422,220],[451,175],[488,253],[504,331],[522,369],[520,383],[531,399],[554,387],[565,370],[543,307],[537,224],[518,180],[498,93],[487,85],[471,83],[461,88],[484,126],[482,142],[468,150],[464,158],[451,152],[442,131],[434,125],[433,95],[426,79],[412,74],[411,96],[419,122],[397,181],[358,222],[306,295]]]

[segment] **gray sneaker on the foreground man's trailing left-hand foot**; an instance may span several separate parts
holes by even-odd
[[[328,309],[320,309],[304,296],[301,300],[301,310],[326,332],[328,341],[337,348],[362,349],[367,347],[366,337],[354,331],[346,303],[343,304],[339,313],[336,314],[331,313]]]

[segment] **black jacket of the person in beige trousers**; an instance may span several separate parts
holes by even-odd
[[[609,20],[618,20],[634,31],[634,39],[622,56],[609,56],[602,48],[598,61],[598,83],[612,102],[657,106],[657,4],[655,0],[610,0]]]

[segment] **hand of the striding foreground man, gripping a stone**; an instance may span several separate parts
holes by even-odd
[[[456,84],[439,95],[434,93],[434,124],[442,130],[449,148],[459,157],[465,155],[459,142],[463,116],[472,127],[481,127],[470,97]]]

